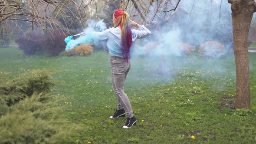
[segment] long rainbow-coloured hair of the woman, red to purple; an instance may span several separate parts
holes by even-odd
[[[121,41],[122,41],[122,55],[125,62],[129,62],[131,59],[131,46],[132,46],[132,34],[131,34],[131,23],[129,14],[125,10],[115,10],[114,17],[116,18],[114,26],[121,25]]]

